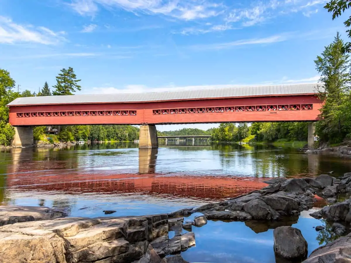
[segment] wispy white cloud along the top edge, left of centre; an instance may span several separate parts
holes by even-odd
[[[99,10],[98,6],[102,6],[134,13],[162,14],[181,20],[204,19],[223,12],[221,5],[203,0],[71,0],[68,5],[81,15],[94,15]]]

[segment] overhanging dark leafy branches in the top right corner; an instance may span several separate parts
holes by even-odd
[[[351,1],[350,0],[330,0],[324,8],[327,9],[328,12],[332,13],[332,18],[333,20],[337,17],[339,17],[342,13],[345,12],[345,10],[349,9],[351,7]],[[349,16],[349,19],[347,19],[344,22],[345,27],[350,27],[351,26],[351,16]],[[351,38],[351,30],[347,29],[347,34],[349,35],[349,38]],[[343,51],[350,52],[351,51],[351,43],[347,42],[345,46],[343,47]]]

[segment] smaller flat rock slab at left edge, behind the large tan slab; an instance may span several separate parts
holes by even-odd
[[[0,227],[18,222],[53,220],[67,216],[66,210],[48,207],[0,206]]]

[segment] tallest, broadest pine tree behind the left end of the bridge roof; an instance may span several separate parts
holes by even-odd
[[[69,67],[68,69],[62,68],[61,73],[56,77],[57,84],[52,86],[55,88],[53,90],[53,95],[73,95],[73,93],[77,90],[81,90],[77,80],[77,76],[75,75],[73,68]]]

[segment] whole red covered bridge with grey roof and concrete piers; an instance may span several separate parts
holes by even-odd
[[[157,147],[155,124],[316,121],[320,84],[180,92],[21,97],[8,104],[14,144],[33,143],[32,126],[140,124],[140,148]],[[313,136],[313,125],[311,125]],[[31,139],[31,140],[29,140]],[[309,138],[310,139],[310,138]],[[313,139],[313,137],[312,137]],[[29,141],[28,141],[29,140]]]

